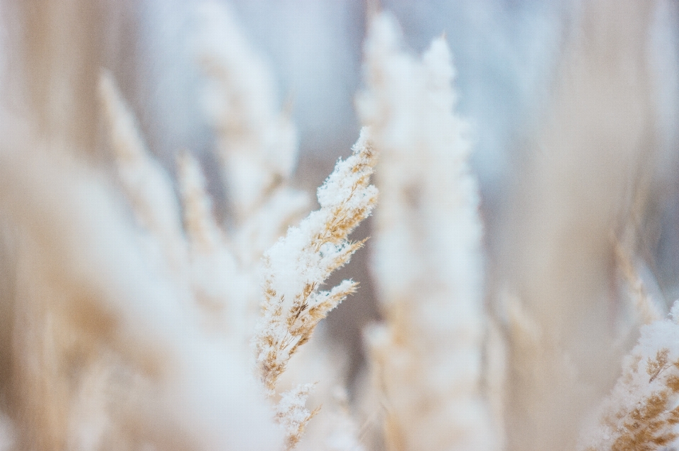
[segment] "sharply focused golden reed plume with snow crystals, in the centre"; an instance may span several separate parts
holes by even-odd
[[[376,203],[377,189],[368,184],[375,163],[364,129],[353,155],[337,162],[318,188],[320,210],[289,229],[265,254],[262,318],[253,342],[257,371],[271,397],[291,356],[311,338],[319,321],[356,289],[355,282],[344,280],[329,291],[318,291],[330,273],[363,245],[363,241],[350,242],[347,236]],[[300,385],[284,393],[278,403],[288,447],[294,447],[313,416],[303,408],[309,390],[308,385]]]

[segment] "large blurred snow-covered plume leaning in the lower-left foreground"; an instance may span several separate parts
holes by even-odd
[[[190,292],[142,245],[110,184],[35,148],[0,157],[0,210],[21,232],[16,448],[281,443],[247,363],[202,327]]]

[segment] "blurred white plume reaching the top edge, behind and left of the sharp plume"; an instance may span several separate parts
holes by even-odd
[[[217,135],[235,221],[231,248],[253,269],[289,224],[308,211],[307,193],[287,182],[297,160],[297,133],[277,111],[271,72],[224,4],[197,8],[199,61],[207,73],[207,114]]]

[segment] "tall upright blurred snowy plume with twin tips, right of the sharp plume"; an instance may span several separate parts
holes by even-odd
[[[467,124],[453,113],[451,52],[402,49],[387,15],[364,47],[356,104],[380,151],[373,267],[386,318],[368,333],[389,450],[492,450],[481,391],[481,222]]]

